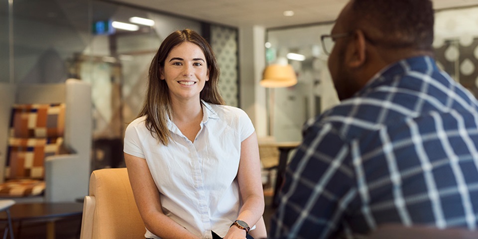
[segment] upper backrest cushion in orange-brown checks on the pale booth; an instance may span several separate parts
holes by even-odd
[[[10,120],[10,137],[63,137],[65,104],[14,105]]]

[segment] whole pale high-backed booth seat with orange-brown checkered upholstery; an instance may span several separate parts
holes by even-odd
[[[76,199],[87,195],[88,178],[91,172],[90,84],[76,79],[68,79],[61,84],[0,84],[0,102],[0,165],[6,165],[6,167],[2,167],[6,170],[0,170],[0,197],[12,199],[16,202],[74,202]],[[22,107],[28,109],[45,104],[60,106],[60,108],[64,106],[63,109],[55,109],[55,111],[64,112],[64,124],[58,124],[54,127],[55,130],[61,131],[63,130],[60,129],[61,126],[64,126],[62,139],[54,143],[50,139],[42,139],[44,145],[39,147],[36,147],[37,142],[33,143],[33,146],[30,145],[30,139],[26,140],[26,143],[23,142],[16,146],[11,145],[12,141],[7,140],[7,138],[15,136],[10,135],[12,131],[10,122],[14,119],[12,112],[15,112],[12,108],[16,108],[16,110]],[[33,112],[34,114],[28,117],[39,119],[38,115],[41,110],[35,110],[38,112]],[[56,115],[60,117],[61,114],[63,113]],[[48,121],[50,117],[51,115],[45,117],[46,123],[50,123]],[[31,120],[31,122],[34,124],[33,127],[41,124],[39,121],[35,123],[35,120]],[[30,126],[28,125],[28,127]],[[42,130],[44,132],[41,132]],[[39,134],[47,134],[46,131],[48,130],[45,128],[30,128],[26,132],[30,135],[38,135],[39,132]],[[55,134],[55,136],[58,135]],[[25,145],[30,149],[22,148]],[[55,146],[56,149],[51,149],[52,146]],[[62,148],[66,150],[61,150]],[[35,150],[41,152],[38,153]],[[68,153],[65,154],[65,151],[68,151]],[[39,160],[43,161],[43,165],[32,165],[32,162],[38,161],[38,159],[33,160],[33,156],[28,156],[27,153],[37,154],[36,157],[44,155],[44,158],[41,157],[41,160]],[[15,162],[16,168],[14,169],[10,167],[13,164],[9,161],[12,159],[12,155],[13,158],[24,160],[23,162]],[[30,158],[28,159],[28,157]],[[26,180],[31,175],[34,175],[36,179],[42,179],[44,192],[38,193],[38,190],[42,188],[42,182],[33,185],[25,181],[10,184],[4,182],[5,176],[11,178],[12,173],[16,173],[17,177],[15,179],[23,178]]]

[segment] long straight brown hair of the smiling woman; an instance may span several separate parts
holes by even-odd
[[[148,90],[144,106],[138,117],[146,116],[146,127],[158,142],[167,145],[171,133],[167,127],[167,117],[171,115],[171,99],[166,81],[160,80],[161,71],[164,70],[164,61],[169,52],[183,42],[191,42],[199,46],[205,57],[209,70],[209,81],[200,93],[201,100],[224,105],[224,100],[219,93],[219,66],[216,56],[209,43],[201,35],[191,29],[174,31],[164,39],[151,61],[148,75]]]

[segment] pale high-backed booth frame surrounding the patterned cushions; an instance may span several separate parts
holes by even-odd
[[[63,145],[68,154],[44,158],[45,191],[36,197],[8,197],[16,202],[73,202],[88,195],[91,165],[91,87],[68,79],[62,84],[13,85],[0,83],[0,183],[5,178],[11,109],[14,104],[63,103]]]

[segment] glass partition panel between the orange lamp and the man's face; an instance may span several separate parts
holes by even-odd
[[[266,63],[287,59],[297,74],[297,85],[267,89],[272,96],[270,131],[278,142],[300,141],[304,122],[339,102],[320,43],[332,26],[328,22],[267,30]]]

